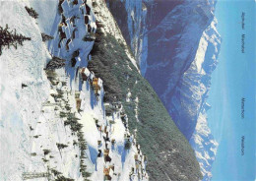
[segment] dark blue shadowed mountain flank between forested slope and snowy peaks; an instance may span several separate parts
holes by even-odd
[[[182,9],[186,11],[180,11]],[[207,4],[205,1],[186,1],[177,5],[149,33],[150,54],[145,77],[158,92],[169,112],[169,96],[194,60],[201,35],[213,20],[213,11],[214,3],[212,2]],[[159,51],[160,47],[164,48]],[[160,74],[158,74],[159,71]],[[173,116],[171,112],[170,115]],[[178,123],[178,119],[174,117],[173,119]],[[188,122],[194,121],[188,120]],[[189,126],[191,123],[182,125]],[[189,140],[193,129],[178,127]]]

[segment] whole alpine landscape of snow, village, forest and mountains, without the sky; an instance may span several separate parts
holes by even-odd
[[[215,3],[1,1],[0,180],[209,180]]]

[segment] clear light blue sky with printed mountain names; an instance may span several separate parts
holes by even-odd
[[[255,1],[218,1],[216,17],[222,36],[219,64],[213,73],[208,111],[209,126],[219,142],[213,181],[255,180]],[[245,12],[245,30],[241,14]],[[241,34],[245,53],[241,53]],[[241,119],[241,98],[245,117]],[[244,155],[241,137],[244,136]]]

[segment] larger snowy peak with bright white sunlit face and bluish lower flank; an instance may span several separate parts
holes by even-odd
[[[180,75],[176,87],[165,95],[170,99],[166,105],[170,115],[178,120],[177,126],[188,139],[204,106],[211,86],[211,74],[218,63],[221,39],[215,26],[216,21],[203,32],[193,62]]]

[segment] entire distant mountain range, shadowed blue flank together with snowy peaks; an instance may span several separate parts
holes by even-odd
[[[148,61],[148,75],[146,73],[146,78],[150,79],[153,87],[154,85],[158,87],[161,100],[172,119],[195,150],[204,175],[203,180],[210,180],[212,177],[211,168],[218,148],[218,143],[207,125],[206,113],[211,74],[218,64],[221,45],[221,36],[216,29],[217,20],[214,18],[215,3],[210,1],[206,6],[201,6],[201,2],[183,3],[162,20],[152,34],[160,36],[159,40],[158,42],[149,41],[153,43],[149,44],[149,47],[153,46],[153,49],[150,48],[151,51],[157,51],[155,47],[166,45],[171,51],[159,50],[165,55],[160,58],[160,61],[156,62],[155,59]],[[195,8],[196,4],[200,6]],[[187,9],[187,12],[197,13],[178,13],[181,7]],[[165,33],[158,34],[161,30]],[[195,44],[198,44],[196,48],[194,48]],[[165,51],[168,52],[165,53]],[[168,58],[171,60],[166,61]],[[162,71],[168,75],[156,76],[161,75]],[[161,78],[169,79],[162,81],[159,86],[156,82]],[[163,88],[164,86],[166,89]]]

